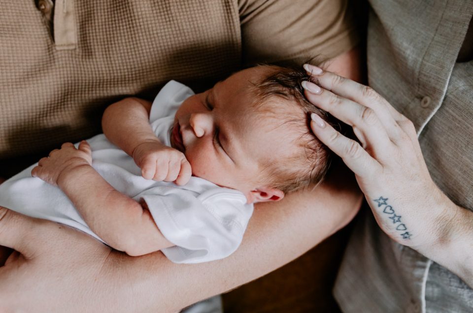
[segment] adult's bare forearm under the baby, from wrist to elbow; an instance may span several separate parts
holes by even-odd
[[[355,186],[354,180],[345,179],[344,184],[326,183],[313,192],[289,194],[280,202],[258,204],[241,246],[222,260],[177,265],[161,253],[138,259],[124,259],[119,254],[112,254],[102,267],[105,279],[98,282],[97,287],[116,285],[118,277],[113,271],[117,263],[122,264],[127,271],[120,274],[120,280],[127,282],[127,288],[114,290],[119,292],[119,297],[125,297],[130,288],[141,295],[153,290],[158,297],[147,303],[130,303],[128,309],[178,311],[273,271],[343,227],[353,218],[361,203],[361,194]],[[138,310],[134,307],[136,305],[144,307]]]

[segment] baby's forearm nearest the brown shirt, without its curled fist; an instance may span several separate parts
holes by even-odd
[[[157,141],[149,125],[151,103],[138,98],[125,98],[110,105],[102,117],[107,139],[133,156],[136,146],[144,141]]]

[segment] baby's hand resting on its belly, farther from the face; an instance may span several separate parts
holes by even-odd
[[[67,142],[61,149],[51,151],[48,157],[39,160],[31,175],[53,186],[58,186],[62,174],[82,165],[92,165],[92,151],[87,141],[83,140],[76,149]]]

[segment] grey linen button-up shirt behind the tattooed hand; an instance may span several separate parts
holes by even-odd
[[[370,2],[369,84],[414,123],[434,182],[473,210],[473,61],[456,61],[473,1]],[[390,240],[367,207],[334,292],[343,312],[473,312],[465,282]]]

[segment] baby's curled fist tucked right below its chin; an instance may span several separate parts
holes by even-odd
[[[186,156],[160,142],[140,143],[133,151],[133,159],[146,179],[175,182],[179,186],[187,184],[191,179],[191,164]]]

